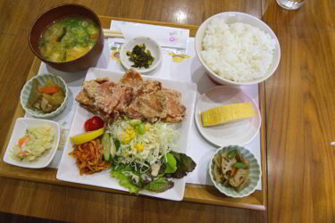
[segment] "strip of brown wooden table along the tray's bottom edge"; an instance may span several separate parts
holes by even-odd
[[[264,211],[0,180],[2,211],[71,222],[263,222]],[[24,202],[14,202],[14,201]],[[87,213],[87,214],[86,214]]]

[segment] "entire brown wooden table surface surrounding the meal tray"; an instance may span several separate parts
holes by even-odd
[[[29,27],[47,8],[85,4],[99,15],[200,25],[218,12],[255,15],[281,43],[265,82],[268,209],[170,202],[0,178],[0,211],[79,222],[335,222],[335,1],[298,11],[274,0],[0,0],[0,146],[33,54]]]

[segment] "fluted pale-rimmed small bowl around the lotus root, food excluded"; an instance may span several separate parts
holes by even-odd
[[[221,183],[218,183],[214,180],[214,156],[216,154],[226,153],[230,152],[231,150],[237,150],[239,153],[242,153],[244,158],[250,162],[250,184],[243,188],[241,191],[237,192],[232,187],[223,186]],[[212,182],[214,183],[214,186],[222,193],[230,197],[245,197],[249,194],[252,194],[255,192],[255,187],[258,185],[258,181],[260,181],[262,176],[261,167],[258,164],[258,161],[255,159],[255,156],[253,153],[250,153],[246,148],[241,147],[239,145],[229,145],[222,147],[218,149],[210,163],[209,163],[209,175],[211,176]]]

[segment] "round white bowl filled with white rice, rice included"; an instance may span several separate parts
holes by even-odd
[[[270,78],[281,59],[276,35],[263,21],[243,12],[222,12],[197,29],[196,52],[215,82],[254,85]]]

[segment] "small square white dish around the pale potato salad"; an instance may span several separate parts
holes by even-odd
[[[38,157],[35,161],[16,161],[11,157],[11,150],[14,145],[18,143],[19,138],[25,135],[26,128],[29,127],[38,127],[42,125],[49,125],[54,128],[54,144],[53,147],[43,153],[40,157]],[[61,137],[61,128],[58,123],[52,120],[38,120],[31,118],[19,118],[15,121],[15,126],[13,129],[13,133],[11,136],[11,140],[7,145],[6,152],[4,153],[4,162],[23,167],[23,168],[31,168],[31,169],[40,169],[45,168],[49,163],[53,160],[54,154],[57,151],[57,147],[59,144],[59,140]]]

